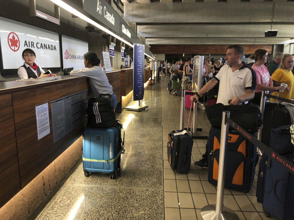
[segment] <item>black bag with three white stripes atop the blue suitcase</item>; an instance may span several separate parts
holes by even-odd
[[[88,124],[92,127],[114,127],[116,124],[115,113],[111,106],[110,100],[101,97],[105,94],[100,94],[98,98],[91,98],[88,101]],[[109,95],[111,97],[111,95]],[[110,98],[111,99],[111,98]]]

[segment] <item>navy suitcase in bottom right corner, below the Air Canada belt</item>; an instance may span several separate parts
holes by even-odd
[[[293,153],[282,156],[289,161],[294,159]],[[294,175],[279,163],[271,160],[267,167],[262,207],[266,216],[285,219],[294,215]],[[294,163],[288,166],[294,167]]]

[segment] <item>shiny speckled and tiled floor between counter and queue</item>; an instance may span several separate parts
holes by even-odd
[[[179,129],[180,99],[166,89],[168,78],[161,79],[161,84],[145,88],[146,111],[117,115],[126,132],[126,153],[117,179],[107,174],[85,177],[80,164],[37,220],[202,219],[201,208],[215,204],[217,193],[207,181],[207,170],[194,165],[205,152],[206,140],[194,140],[189,174],[170,169],[167,137]],[[184,127],[188,116],[186,110]],[[208,134],[210,123],[203,110],[198,111],[197,127],[203,129],[199,135]],[[257,176],[249,193],[225,189],[224,205],[240,219],[273,219],[266,218],[257,203],[256,185]]]

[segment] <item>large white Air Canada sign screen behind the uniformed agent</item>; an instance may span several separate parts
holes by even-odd
[[[17,76],[17,69],[25,62],[21,55],[26,48],[36,53],[35,63],[41,68],[60,71],[58,33],[3,17],[0,27],[2,76]]]

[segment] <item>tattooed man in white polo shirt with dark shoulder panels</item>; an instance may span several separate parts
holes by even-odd
[[[212,89],[218,82],[220,83],[217,103],[224,105],[240,105],[242,101],[249,101],[254,97],[254,90],[256,87],[256,75],[253,69],[248,67],[242,58],[244,56],[244,49],[241,45],[230,45],[227,48],[225,64],[220,71],[209,80],[205,86],[190,100],[198,100],[198,98]],[[228,101],[230,100],[230,104]],[[208,168],[207,158],[208,152],[202,155],[203,159],[195,162],[195,165],[202,168]]]

